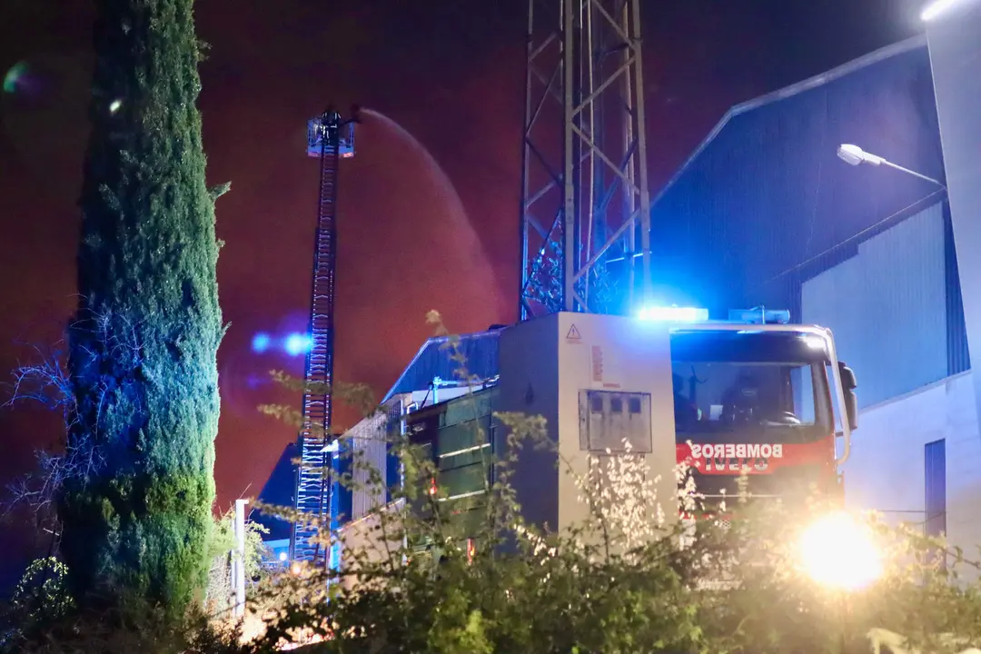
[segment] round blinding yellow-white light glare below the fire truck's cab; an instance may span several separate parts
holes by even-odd
[[[811,579],[843,590],[862,588],[882,575],[882,554],[871,533],[843,511],[804,530],[800,559]]]

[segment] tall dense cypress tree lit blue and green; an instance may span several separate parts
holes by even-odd
[[[77,600],[206,580],[222,337],[193,0],[98,0],[59,509]]]

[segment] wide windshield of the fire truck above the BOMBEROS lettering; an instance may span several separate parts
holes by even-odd
[[[823,341],[798,331],[671,336],[679,439],[807,442],[833,430]]]

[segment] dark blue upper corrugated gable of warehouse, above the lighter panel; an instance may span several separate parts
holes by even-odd
[[[925,46],[731,116],[655,202],[655,283],[717,314],[765,301],[797,309],[800,320],[789,271],[813,277],[853,256],[856,236],[915,213],[936,191],[886,168],[845,164],[842,143],[943,177]],[[774,278],[788,288],[768,283]]]

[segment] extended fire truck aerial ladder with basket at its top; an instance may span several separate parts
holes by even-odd
[[[337,259],[337,174],[340,160],[354,156],[354,123],[329,109],[307,126],[307,155],[320,159],[320,197],[313,258],[313,290],[303,392],[303,423],[299,434],[300,466],[296,473],[295,508],[323,525],[334,516],[331,478],[334,468],[328,446],[331,435],[331,383],[334,381],[334,295]],[[333,518],[332,518],[333,522]],[[334,525],[331,525],[334,528]],[[316,565],[321,552],[311,540],[318,527],[293,525],[290,559]]]

